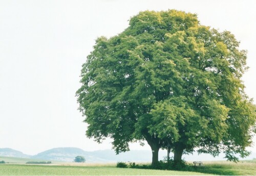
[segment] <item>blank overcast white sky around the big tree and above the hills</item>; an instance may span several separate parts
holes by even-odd
[[[256,1],[0,0],[0,148],[30,155],[53,147],[111,148],[110,140],[97,144],[84,135],[75,97],[81,65],[97,37],[122,32],[139,11],[168,9],[197,13],[201,24],[241,41],[250,67],[246,92],[256,99]]]

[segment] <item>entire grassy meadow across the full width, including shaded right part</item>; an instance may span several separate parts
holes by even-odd
[[[256,160],[203,162],[205,167],[191,171],[150,170],[116,168],[116,163],[68,163],[25,164],[28,161],[39,161],[26,158],[0,157],[7,164],[0,164],[0,175],[256,175]],[[40,160],[41,161],[41,160]],[[189,163],[192,165],[192,163]]]

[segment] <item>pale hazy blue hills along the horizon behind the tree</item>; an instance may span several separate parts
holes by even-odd
[[[162,160],[164,156],[167,155],[166,150],[159,151],[159,160]],[[83,156],[86,158],[87,163],[108,163],[108,162],[151,162],[152,153],[150,150],[131,150],[129,152],[121,153],[116,155],[113,150],[96,150],[93,152],[87,152],[80,148],[75,147],[61,147],[61,148],[52,148],[41,152],[37,155],[30,156],[25,155],[22,152],[11,148],[0,148],[0,156],[7,157],[18,157],[18,158],[30,158],[34,160],[47,160],[47,161],[64,161],[64,162],[73,162],[76,156]],[[172,157],[173,155],[170,154]],[[212,157],[208,154],[198,155],[194,153],[193,155],[183,155],[186,161],[220,161],[226,160],[224,154],[220,154],[218,157]],[[249,157],[243,160],[252,160],[256,158],[256,154],[252,153]],[[241,158],[240,158],[241,159]],[[242,160],[242,159],[241,159]]]

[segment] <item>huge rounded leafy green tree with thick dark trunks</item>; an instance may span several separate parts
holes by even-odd
[[[255,133],[255,106],[241,77],[246,51],[228,31],[199,24],[182,11],[144,11],[110,39],[100,37],[82,65],[79,110],[86,132],[113,139],[116,153],[146,141],[152,164],[160,148],[228,160],[248,155]]]

